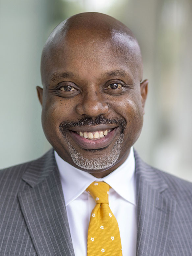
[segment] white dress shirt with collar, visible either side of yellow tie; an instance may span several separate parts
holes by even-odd
[[[135,256],[137,224],[133,148],[121,166],[101,179],[73,167],[58,156],[57,152],[55,158],[60,172],[75,256],[87,255],[89,219],[96,203],[85,189],[94,181],[104,181],[111,186],[109,207],[119,225],[123,256]]]

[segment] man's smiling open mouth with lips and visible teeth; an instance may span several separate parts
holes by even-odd
[[[106,148],[113,141],[119,130],[118,128],[119,127],[79,127],[78,129],[70,129],[69,134],[83,149],[101,149]]]

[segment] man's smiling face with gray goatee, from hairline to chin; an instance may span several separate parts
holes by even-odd
[[[43,90],[38,87],[48,141],[65,161],[98,178],[128,156],[141,132],[147,95],[137,42],[105,33],[70,29],[50,44]]]

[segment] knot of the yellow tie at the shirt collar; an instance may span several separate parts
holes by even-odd
[[[110,186],[105,182],[93,182],[86,191],[92,195],[96,204],[109,204],[109,188]]]

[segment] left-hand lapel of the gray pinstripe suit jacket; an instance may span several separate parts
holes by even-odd
[[[38,256],[74,256],[59,172],[53,150],[23,176],[31,187],[18,194]]]

